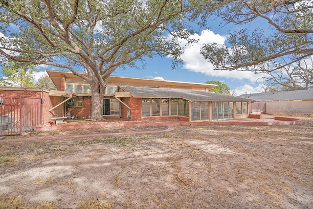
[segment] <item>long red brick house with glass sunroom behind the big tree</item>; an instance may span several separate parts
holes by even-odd
[[[0,100],[9,97],[31,97],[42,100],[40,123],[51,118],[91,114],[89,83],[71,72],[46,70],[55,90],[0,87]],[[103,116],[126,120],[210,121],[247,118],[249,98],[209,92],[216,85],[156,79],[110,76],[103,98]],[[11,102],[12,103],[12,102]],[[9,110],[8,103],[2,109]],[[18,106],[14,107],[19,109]],[[4,110],[4,109],[3,109]],[[235,110],[235,111],[234,111]],[[8,115],[3,112],[2,115]],[[20,113],[19,113],[20,114]],[[35,114],[36,115],[36,114]],[[14,118],[22,117],[22,113]],[[21,119],[22,120],[22,119]]]

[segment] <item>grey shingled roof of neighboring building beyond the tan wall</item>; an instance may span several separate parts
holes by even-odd
[[[251,93],[242,94],[238,97],[253,99],[256,101],[273,101],[273,100],[303,100],[313,99],[313,90],[295,90],[283,92],[268,92],[268,93]]]

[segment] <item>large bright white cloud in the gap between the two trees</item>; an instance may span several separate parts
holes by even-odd
[[[224,78],[235,78],[235,79],[248,79],[251,82],[256,82],[257,79],[264,77],[264,75],[255,74],[249,71],[240,71],[240,70],[213,70],[212,64],[203,58],[200,54],[200,49],[203,44],[210,42],[216,42],[218,44],[224,44],[226,37],[214,34],[213,31],[207,29],[201,32],[201,35],[194,34],[191,35],[191,38],[199,40],[197,43],[188,46],[185,41],[182,41],[182,46],[185,46],[185,51],[181,56],[181,59],[184,62],[183,67],[187,70],[194,72],[201,72],[205,75],[212,77],[224,77]]]

